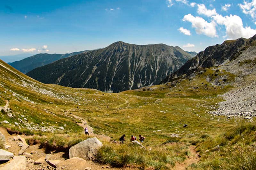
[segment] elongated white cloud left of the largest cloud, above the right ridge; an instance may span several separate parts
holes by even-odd
[[[194,17],[191,14],[185,15],[183,21],[191,22],[192,27],[196,29],[197,34],[204,34],[209,37],[218,37],[216,33],[216,23],[214,21],[208,23],[201,17]]]

